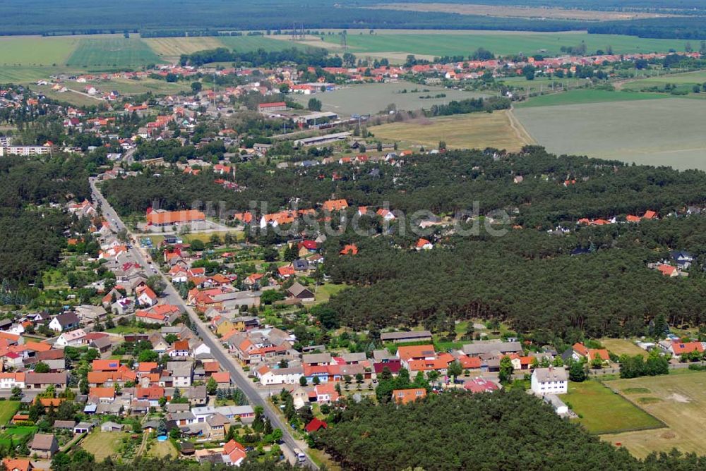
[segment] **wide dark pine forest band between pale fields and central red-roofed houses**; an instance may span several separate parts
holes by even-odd
[[[523,177],[522,183],[513,183],[516,176]],[[568,179],[575,184],[565,186]],[[407,214],[427,209],[453,215],[471,210],[477,202],[480,214],[503,209],[513,214],[515,224],[534,228],[554,228],[584,217],[642,214],[647,209],[666,214],[700,204],[706,195],[706,175],[701,171],[556,157],[542,147],[507,155],[492,150],[415,155],[399,168],[376,163],[311,169],[243,164],[235,178],[243,188],[239,192],[213,180],[209,172],[191,176],[176,171],[169,178],[148,172],[107,181],[104,189],[121,214],[144,213],[155,203],[164,209],[184,209],[204,201],[224,202],[233,212],[249,209],[252,201],[265,202],[268,212],[275,212],[287,208],[292,198],[301,209],[317,207],[336,195],[356,206],[381,207],[388,202],[390,209]]]

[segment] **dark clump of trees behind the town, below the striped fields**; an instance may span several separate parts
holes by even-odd
[[[329,56],[328,51],[319,48],[292,47],[282,51],[229,51],[225,47],[182,54],[182,66],[203,66],[212,62],[249,63],[251,66],[264,66],[276,63],[297,63],[316,67],[340,67],[343,60],[339,56]]]

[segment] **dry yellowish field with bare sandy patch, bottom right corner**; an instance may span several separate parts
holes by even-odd
[[[652,451],[669,451],[674,447],[685,453],[703,453],[706,435],[700,430],[706,427],[705,373],[618,379],[606,385],[625,393],[669,427],[602,437],[606,441],[620,443],[639,458]],[[648,392],[630,393],[639,388]]]

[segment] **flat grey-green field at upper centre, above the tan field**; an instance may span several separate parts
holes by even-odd
[[[417,89],[418,92],[412,92]],[[407,90],[407,93],[402,93]],[[443,98],[421,98],[436,94],[445,94]],[[351,87],[316,94],[321,100],[323,111],[333,111],[342,116],[352,114],[378,114],[385,110],[389,104],[395,104],[398,110],[430,109],[434,104],[444,104],[451,100],[483,97],[477,92],[464,92],[462,90],[446,90],[443,87],[430,85],[417,85],[408,82],[374,83],[366,85],[352,85]],[[306,106],[311,95],[294,94],[292,98]]]

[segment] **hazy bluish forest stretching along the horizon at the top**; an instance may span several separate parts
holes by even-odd
[[[488,3],[487,0],[474,0]],[[318,0],[309,4],[293,0],[244,0],[223,2],[200,0],[182,2],[175,7],[168,0],[71,0],[56,3],[48,0],[0,0],[0,35],[76,35],[105,32],[143,32],[145,37],[157,35],[217,35],[224,30],[291,30],[294,25],[309,28],[405,28],[456,30],[526,30],[568,31],[585,30],[595,22],[493,16],[460,15],[456,13],[395,11],[368,9],[366,6],[389,3],[384,0],[363,0],[354,5],[341,5],[335,0]],[[517,4],[503,0],[500,4]],[[669,8],[670,13],[702,14],[698,0],[532,0],[524,5],[563,6],[570,8],[621,10],[623,8]],[[661,21],[660,18],[658,21]],[[681,19],[677,19],[681,20]],[[701,18],[702,20],[702,18]],[[630,21],[618,22],[627,27]],[[678,25],[671,23],[672,26]],[[703,32],[703,27],[699,28]],[[640,31],[626,29],[630,34],[648,34],[649,27]],[[669,34],[664,27],[661,34]],[[669,37],[683,37],[681,28],[674,27]]]

